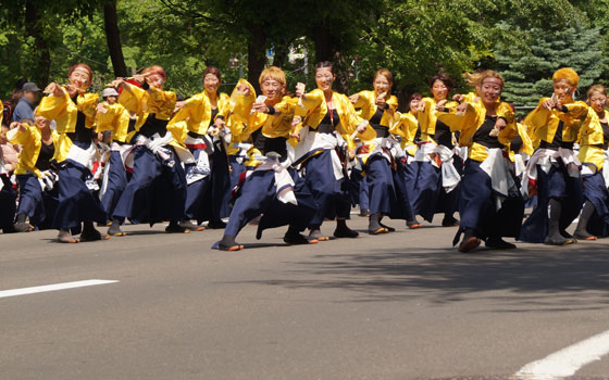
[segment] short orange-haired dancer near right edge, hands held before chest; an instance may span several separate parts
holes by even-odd
[[[524,119],[532,139],[540,142],[522,177],[523,195],[537,194],[537,207],[522,225],[522,241],[551,245],[575,242],[566,231],[583,205],[581,163],[573,145],[595,116],[586,103],[573,99],[579,79],[572,68],[558,69],[552,75],[552,97],[542,98]]]

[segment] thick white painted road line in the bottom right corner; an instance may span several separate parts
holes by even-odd
[[[609,353],[609,330],[560,350],[522,367],[514,376],[521,380],[555,380],[575,375],[583,366]]]

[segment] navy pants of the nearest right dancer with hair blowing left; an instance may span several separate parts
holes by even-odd
[[[490,177],[480,165],[477,161],[465,161],[459,202],[459,230],[474,229],[481,239],[517,238],[524,215],[522,195],[519,191],[510,193],[497,211]]]

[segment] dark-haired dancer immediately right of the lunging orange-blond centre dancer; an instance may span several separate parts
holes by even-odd
[[[315,65],[318,88],[306,94],[297,89],[300,100],[293,122],[293,136],[300,140],[295,165],[304,170],[304,181],[319,207],[309,225],[309,237],[320,241],[328,240],[320,230],[324,218],[336,218],[336,238],[359,235],[347,227],[351,205],[344,182],[348,179],[336,150],[346,145],[349,154],[355,154],[351,135],[365,131],[368,122],[356,114],[349,98],[332,90],[335,78],[332,63]]]

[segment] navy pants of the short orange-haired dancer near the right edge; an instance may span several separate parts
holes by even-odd
[[[584,203],[581,178],[569,176],[562,161],[552,164],[546,174],[537,165],[537,207],[522,225],[519,240],[530,243],[543,243],[548,235],[548,204],[550,199],[560,200],[562,212],[559,228],[567,229],[580,215]]]

